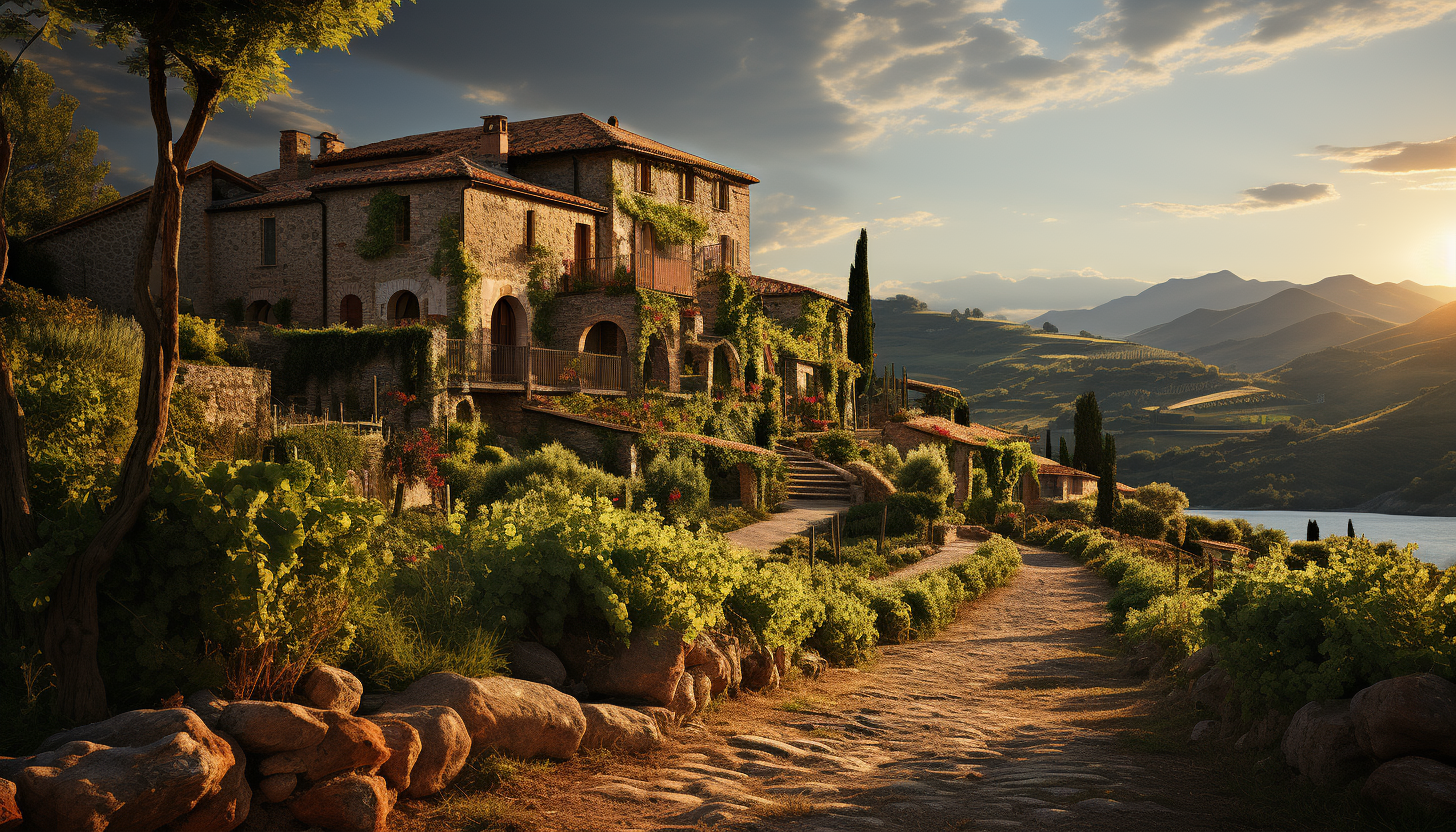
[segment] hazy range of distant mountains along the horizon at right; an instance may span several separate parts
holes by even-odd
[[[1290,289],[1303,290],[1335,306],[1321,305],[1319,307],[1310,307],[1303,315],[1296,310],[1291,312],[1293,318],[1284,319],[1270,315],[1270,326],[1262,331],[1243,331],[1241,335],[1224,332],[1198,342],[1184,341],[1182,347],[1171,348],[1187,351],[1211,347],[1230,338],[1270,335],[1277,329],[1315,315],[1324,315],[1325,312],[1341,312],[1351,318],[1379,318],[1393,323],[1405,323],[1441,303],[1456,300],[1456,289],[1452,287],[1428,287],[1411,281],[1373,284],[1353,274],[1326,277],[1319,283],[1302,286],[1287,280],[1245,280],[1232,271],[1216,271],[1201,277],[1168,280],[1139,294],[1118,297],[1092,309],[1047,312],[1026,321],[1026,323],[1040,326],[1042,322],[1051,322],[1063,332],[1085,329],[1111,338],[1131,337],[1131,340],[1137,341],[1139,335],[1155,328],[1150,326],[1153,323],[1174,322],[1197,310],[1236,312],[1241,307],[1268,300]],[[1195,321],[1203,321],[1203,318]]]

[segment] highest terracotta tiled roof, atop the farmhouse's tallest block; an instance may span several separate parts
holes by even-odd
[[[571,153],[584,150],[609,150],[623,147],[636,150],[660,159],[703,168],[745,184],[759,179],[735,170],[727,165],[719,165],[693,156],[676,147],[654,141],[645,136],[638,136],[630,130],[613,127],[584,114],[552,115],[547,118],[530,118],[515,121],[507,127],[511,156],[540,156],[546,153]],[[316,159],[317,168],[331,165],[348,165],[352,162],[368,162],[371,159],[387,159],[390,156],[440,156],[469,152],[480,138],[480,127],[463,127],[457,130],[440,130],[435,133],[421,133],[384,141],[371,141],[358,147],[349,147],[326,157]]]

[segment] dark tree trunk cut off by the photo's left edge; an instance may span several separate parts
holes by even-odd
[[[17,58],[19,60],[19,58]],[[15,146],[10,124],[0,109],[0,194],[10,179]],[[0,286],[10,267],[10,238],[0,207]],[[33,619],[10,594],[10,573],[20,558],[36,546],[35,517],[31,514],[31,458],[25,450],[25,409],[15,395],[15,377],[4,340],[0,340],[0,634],[16,638],[33,635]]]

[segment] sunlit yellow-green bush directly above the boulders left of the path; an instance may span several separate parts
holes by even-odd
[[[467,530],[467,545],[486,618],[546,644],[574,618],[620,640],[655,625],[692,640],[722,621],[722,603],[748,568],[713,532],[561,487],[492,506]]]

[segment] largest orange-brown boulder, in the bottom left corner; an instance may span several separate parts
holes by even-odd
[[[63,755],[55,762],[68,765],[32,765],[20,772],[20,809],[29,826],[52,832],[159,829],[217,791],[233,765],[226,743],[223,749],[226,756],[215,756],[178,731],[141,747]]]

